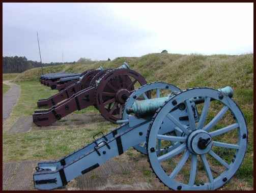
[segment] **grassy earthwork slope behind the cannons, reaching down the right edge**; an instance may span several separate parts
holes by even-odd
[[[253,54],[205,56],[198,54],[153,53],[141,57],[118,57],[112,61],[96,61],[91,65],[76,63],[75,65],[46,67],[44,72],[66,71],[81,73],[100,66],[104,69],[116,68],[121,66],[124,61],[128,62],[131,69],[143,75],[148,82],[163,81],[174,84],[181,89],[200,86],[212,88],[231,86],[234,89],[234,100],[243,111],[249,130],[247,154],[237,172],[237,176],[245,181],[246,187],[251,188],[253,186]],[[31,69],[19,74],[15,81],[21,85],[28,85],[31,82],[35,84],[37,82],[34,85],[34,88],[36,88],[39,84],[40,75],[40,68]],[[44,89],[45,92],[49,90],[47,87],[44,87]],[[27,94],[26,99],[30,97],[29,95],[32,94]],[[33,102],[33,105],[35,104]],[[24,109],[26,106],[24,105]],[[30,111],[33,111],[33,108],[31,106],[27,109],[27,114],[31,115],[32,112]]]

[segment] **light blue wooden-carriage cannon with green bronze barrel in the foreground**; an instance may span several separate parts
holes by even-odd
[[[35,188],[63,187],[133,147],[170,189],[217,189],[239,169],[247,146],[246,121],[232,95],[230,87],[141,86],[127,99],[118,128],[59,160],[38,163]]]

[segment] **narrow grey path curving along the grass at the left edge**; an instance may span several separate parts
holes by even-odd
[[[3,95],[3,121],[9,117],[12,108],[17,103],[20,96],[20,86],[11,83],[10,81],[11,80],[3,81],[3,83],[11,86],[11,88]]]

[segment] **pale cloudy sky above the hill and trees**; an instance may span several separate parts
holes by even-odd
[[[253,53],[253,3],[3,3],[3,55],[42,62]]]

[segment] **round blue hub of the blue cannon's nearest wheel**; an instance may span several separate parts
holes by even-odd
[[[187,139],[188,150],[194,154],[206,154],[212,148],[212,138],[204,130],[193,131]]]

